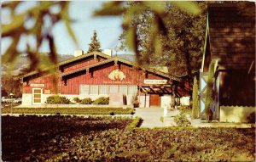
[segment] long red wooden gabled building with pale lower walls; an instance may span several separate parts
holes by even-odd
[[[160,106],[170,100],[172,85],[179,78],[154,69],[138,68],[136,64],[104,53],[79,54],[56,64],[55,75],[32,71],[21,77],[23,82],[22,104],[42,104],[55,93],[67,98],[108,97],[111,93],[122,93],[127,104],[137,95],[141,107]]]

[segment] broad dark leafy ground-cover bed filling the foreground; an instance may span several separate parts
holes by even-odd
[[[255,130],[125,129],[129,118],[3,116],[3,161],[254,161]]]

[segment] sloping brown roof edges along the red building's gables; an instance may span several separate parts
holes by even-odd
[[[126,59],[121,59],[119,57],[111,57],[111,56],[108,56],[107,54],[104,54],[104,53],[99,53],[99,52],[92,52],[92,53],[87,53],[87,54],[84,54],[84,55],[81,55],[81,56],[78,56],[78,57],[75,57],[73,59],[67,59],[66,61],[63,61],[59,64],[56,64],[54,65],[53,67],[51,68],[59,68],[60,66],[62,65],[65,65],[65,64],[72,64],[74,61],[78,61],[80,59],[84,59],[84,58],[89,58],[90,56],[101,56],[102,58],[105,58],[105,60],[103,61],[100,61],[100,62],[97,62],[95,64],[90,64],[88,66],[84,66],[82,68],[79,68],[79,69],[76,69],[76,70],[71,70],[71,71],[68,71],[66,73],[61,73],[59,76],[63,77],[63,76],[67,76],[67,75],[72,75],[74,73],[77,73],[79,71],[83,71],[83,70],[89,70],[90,68],[93,68],[93,67],[96,67],[96,66],[99,66],[99,65],[102,65],[102,64],[108,64],[108,63],[111,63],[111,62],[121,62],[123,64],[128,64],[128,65],[131,65],[131,66],[134,66],[134,67],[137,67],[136,64],[134,64],[133,62],[131,61],[128,61]],[[46,70],[49,70],[49,69],[45,69]],[[143,69],[144,70],[144,69]],[[151,72],[151,73],[154,73],[156,75],[160,75],[160,76],[163,76],[163,77],[166,77],[166,78],[169,78],[169,79],[172,79],[172,80],[175,80],[175,81],[180,81],[180,78],[176,77],[176,76],[172,76],[172,75],[169,75],[169,74],[166,74],[164,72],[161,72],[159,70],[154,70],[154,69],[147,69],[148,72]],[[22,75],[20,76],[20,78],[25,78],[27,76],[30,76],[30,75],[36,75],[38,74],[38,71],[32,71],[30,73],[27,73],[26,75]]]

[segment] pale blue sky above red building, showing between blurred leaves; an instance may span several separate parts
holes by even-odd
[[[119,44],[119,35],[122,33],[122,17],[94,17],[93,13],[96,9],[102,7],[103,1],[73,1],[70,3],[69,14],[71,19],[76,20],[72,24],[73,31],[79,42],[78,47],[68,35],[66,25],[63,22],[58,22],[52,29],[55,39],[57,53],[59,54],[73,54],[74,50],[82,49],[86,53],[89,47],[90,38],[93,36],[93,31],[96,30],[98,40],[101,42],[102,49],[113,49]],[[17,8],[17,13],[22,13],[27,8],[31,8],[35,2],[26,2]],[[58,10],[58,8],[54,8]],[[1,21],[9,22],[9,11],[2,11]],[[26,25],[32,25],[32,22],[26,22]],[[33,44],[32,37],[27,38],[22,36],[18,48],[20,51],[26,49],[26,42]],[[4,38],[1,41],[1,53],[9,47],[11,40]],[[47,42],[39,48],[39,52],[49,52]],[[118,51],[118,54],[127,53],[125,51]]]

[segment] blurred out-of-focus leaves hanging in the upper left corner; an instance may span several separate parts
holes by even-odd
[[[55,40],[51,31],[53,26],[61,20],[67,26],[67,31],[72,37],[73,42],[77,44],[68,15],[69,2],[41,1],[36,2],[36,5],[32,8],[27,8],[22,13],[15,12],[20,6],[26,5],[26,3],[22,1],[4,2],[2,5],[3,10],[11,12],[11,21],[8,24],[2,24],[2,37],[9,37],[12,40],[12,43],[2,55],[2,64],[9,64],[9,74],[21,53],[26,53],[30,59],[31,63],[27,71],[38,70],[40,72],[57,63]],[[53,8],[60,9],[55,11]],[[33,37],[36,43],[26,42],[25,51],[20,51],[17,45],[20,42],[21,36]],[[38,53],[38,49],[44,41],[48,42],[49,45],[50,53],[47,55]],[[49,72],[55,72],[55,69]]]

